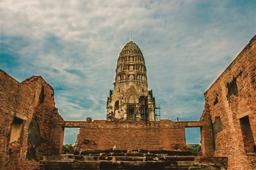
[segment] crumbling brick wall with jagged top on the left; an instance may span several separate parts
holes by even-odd
[[[0,169],[34,169],[61,153],[63,122],[54,91],[41,76],[19,83],[0,69]]]

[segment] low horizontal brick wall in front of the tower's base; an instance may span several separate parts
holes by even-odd
[[[84,150],[185,150],[185,127],[189,122],[84,122],[77,135],[77,148]],[[200,125],[195,122],[196,125]]]

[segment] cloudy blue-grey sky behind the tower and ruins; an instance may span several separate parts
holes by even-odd
[[[1,0],[0,68],[18,81],[43,76],[65,120],[105,119],[118,53],[132,35],[161,118],[198,120],[205,90],[256,34],[255,9],[250,0]],[[188,143],[200,141],[192,136]]]

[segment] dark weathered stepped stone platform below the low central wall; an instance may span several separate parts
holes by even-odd
[[[164,150],[104,150],[79,154],[49,155],[42,169],[189,169],[195,164],[191,152]]]

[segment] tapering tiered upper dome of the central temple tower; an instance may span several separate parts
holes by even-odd
[[[116,66],[115,86],[134,82],[147,87],[147,69],[143,54],[134,41],[129,41],[119,53]]]

